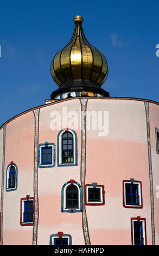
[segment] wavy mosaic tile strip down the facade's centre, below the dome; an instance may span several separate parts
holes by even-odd
[[[83,202],[83,211],[82,211],[82,224],[84,230],[84,237],[86,245],[91,245],[90,236],[88,233],[88,223],[87,215],[85,208],[85,172],[86,172],[86,105],[87,99],[80,99],[82,107],[82,149],[81,149],[81,186],[82,186],[82,202]]]

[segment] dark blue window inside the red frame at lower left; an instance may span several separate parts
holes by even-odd
[[[34,216],[34,201],[33,200],[24,201],[23,222],[33,222],[33,216]]]

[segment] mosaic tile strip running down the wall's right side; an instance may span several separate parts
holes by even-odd
[[[146,111],[147,132],[148,132],[149,175],[150,175],[150,194],[151,194],[151,222],[152,222],[151,223],[152,224],[152,245],[155,245],[154,195],[153,195],[151,144],[150,144],[149,102],[145,101],[144,105],[145,105],[145,111]]]

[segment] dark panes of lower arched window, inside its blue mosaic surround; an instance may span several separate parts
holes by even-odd
[[[66,208],[78,208],[78,188],[71,184],[66,189]]]

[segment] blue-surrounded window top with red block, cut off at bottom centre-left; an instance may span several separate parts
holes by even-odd
[[[58,232],[55,235],[50,235],[49,245],[72,245],[72,237],[63,232]]]

